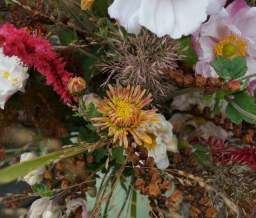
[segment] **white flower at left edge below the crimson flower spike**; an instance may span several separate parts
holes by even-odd
[[[16,56],[5,56],[0,49],[0,107],[4,110],[5,102],[18,90],[25,92],[28,79],[28,67],[22,67]]]

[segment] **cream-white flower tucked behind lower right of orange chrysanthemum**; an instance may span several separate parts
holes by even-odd
[[[168,122],[162,114],[158,114],[155,119],[161,120],[161,123],[148,123],[146,126],[147,134],[152,139],[152,143],[144,143],[148,148],[148,156],[154,157],[155,164],[160,169],[169,166],[167,150],[178,152],[178,143],[174,143],[172,134],[172,124]]]

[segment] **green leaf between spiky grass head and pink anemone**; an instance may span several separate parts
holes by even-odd
[[[186,55],[187,57],[183,60],[189,64],[190,67],[193,67],[196,61],[196,52],[193,49],[190,37],[185,37],[184,39],[180,40],[180,49],[178,51],[181,51],[182,49],[188,47],[185,51],[180,52],[181,55]]]

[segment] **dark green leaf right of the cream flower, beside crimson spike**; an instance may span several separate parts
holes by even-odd
[[[193,144],[193,147],[196,148],[196,151],[193,152],[192,155],[196,158],[198,164],[202,164],[205,161],[211,161],[211,155],[206,145],[202,145],[201,143],[195,143]]]

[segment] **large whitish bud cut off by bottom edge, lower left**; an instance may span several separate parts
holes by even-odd
[[[33,202],[28,212],[30,218],[60,218],[61,210],[56,201],[40,198]]]

